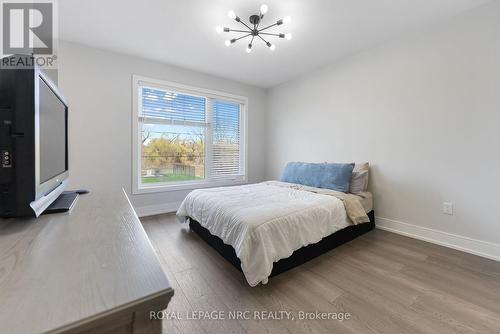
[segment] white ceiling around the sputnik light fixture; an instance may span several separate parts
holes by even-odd
[[[254,43],[224,45],[216,25],[236,27],[269,6],[263,24],[293,39],[270,51]],[[489,0],[62,0],[61,39],[140,56],[259,87],[272,87],[342,57],[437,23]],[[257,41],[259,42],[259,41]]]

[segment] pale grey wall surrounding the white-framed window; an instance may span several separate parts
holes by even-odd
[[[70,104],[70,186],[130,194],[132,74],[246,96],[248,176],[264,176],[266,91],[234,81],[123,54],[60,42],[59,87]],[[187,191],[133,195],[139,213],[172,210]]]

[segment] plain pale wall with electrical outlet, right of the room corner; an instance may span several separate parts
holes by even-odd
[[[380,222],[500,250],[500,4],[275,87],[268,108],[268,178],[370,161]]]

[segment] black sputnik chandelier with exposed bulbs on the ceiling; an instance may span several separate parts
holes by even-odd
[[[253,42],[254,39],[257,37],[258,39],[262,40],[268,47],[269,50],[274,51],[276,49],[276,46],[269,42],[266,38],[269,37],[279,37],[279,38],[284,38],[287,40],[292,39],[292,34],[282,34],[282,33],[272,33],[269,32],[268,29],[274,27],[274,26],[280,26],[284,23],[290,23],[292,21],[292,18],[290,16],[286,16],[282,19],[279,19],[275,23],[265,26],[264,28],[259,28],[260,24],[262,23],[262,19],[264,18],[264,14],[267,13],[267,5],[262,5],[260,6],[260,13],[256,15],[250,16],[248,19],[250,21],[250,25],[246,24],[243,22],[233,10],[230,10],[227,13],[227,16],[229,16],[230,19],[235,20],[238,23],[241,23],[244,26],[244,29],[231,29],[231,28],[226,28],[226,27],[221,27],[217,26],[215,28],[215,31],[217,33],[222,33],[222,32],[237,32],[237,33],[243,33],[244,35],[241,35],[239,37],[233,38],[233,39],[228,39],[225,41],[226,46],[230,46],[231,44],[234,44],[235,42],[239,41],[240,39],[243,38],[250,38],[250,43],[247,45],[247,53],[252,52],[252,47],[253,47]],[[253,26],[253,27],[252,27]]]

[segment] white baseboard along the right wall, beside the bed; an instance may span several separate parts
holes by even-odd
[[[500,245],[434,230],[428,227],[403,223],[392,219],[375,217],[377,228],[419,239],[433,244],[453,248],[491,260],[500,261]]]

